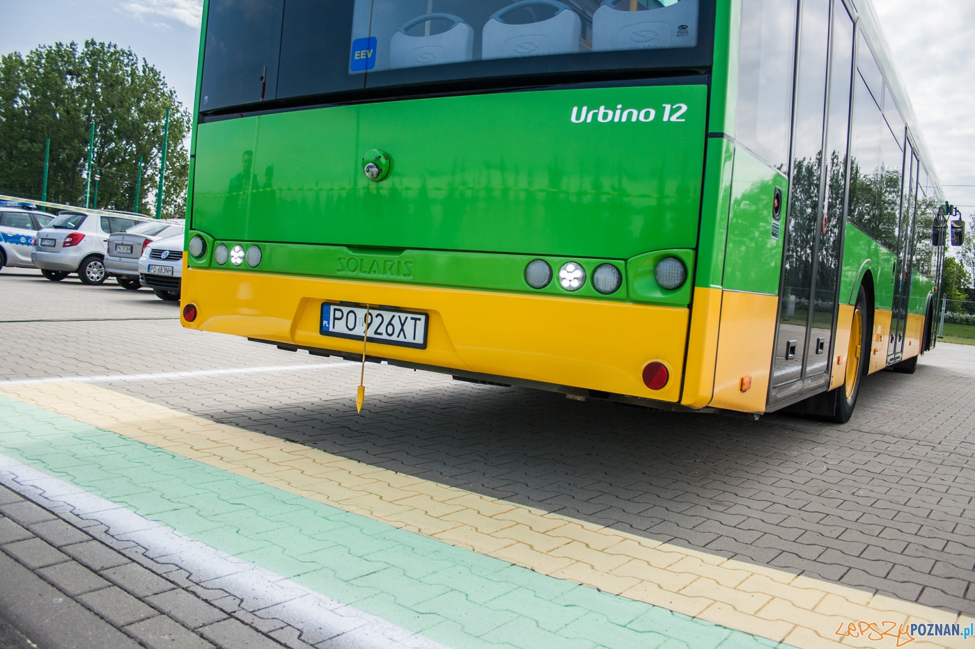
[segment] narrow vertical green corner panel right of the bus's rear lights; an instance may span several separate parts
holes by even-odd
[[[694,286],[722,286],[733,160],[734,147],[731,142],[724,137],[708,138]]]

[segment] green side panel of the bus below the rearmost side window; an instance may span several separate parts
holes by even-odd
[[[782,237],[773,237],[772,198],[782,189],[784,228],[788,214],[789,181],[748,151],[738,148],[731,181],[727,248],[724,261],[725,288],[777,295],[782,271]]]

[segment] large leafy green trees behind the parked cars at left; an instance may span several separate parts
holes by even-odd
[[[190,115],[159,71],[113,43],[41,46],[0,58],[0,191],[40,198],[51,138],[48,199],[84,205],[91,125],[98,207],[155,214],[166,109],[171,110],[163,212],[186,206]],[[135,206],[138,158],[139,205]],[[93,181],[94,193],[94,181]]]

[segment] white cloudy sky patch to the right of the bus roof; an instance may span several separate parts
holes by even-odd
[[[975,207],[975,3],[874,0],[945,198]],[[970,211],[970,209],[965,209]]]

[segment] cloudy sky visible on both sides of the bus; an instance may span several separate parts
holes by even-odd
[[[0,0],[0,54],[88,38],[132,48],[193,103],[202,0]],[[975,2],[874,0],[948,201],[975,213]]]

